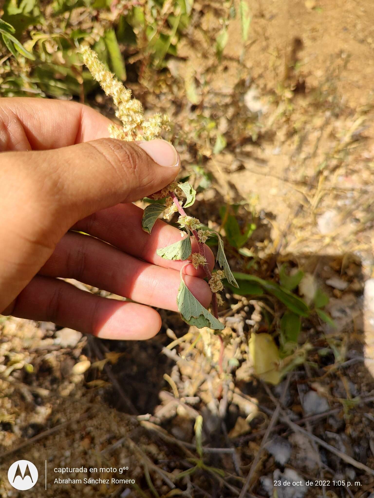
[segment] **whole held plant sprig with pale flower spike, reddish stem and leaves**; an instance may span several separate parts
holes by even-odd
[[[155,114],[148,120],[144,117],[142,104],[132,98],[131,90],[115,78],[99,60],[97,54],[88,46],[80,46],[83,61],[93,78],[100,84],[105,94],[112,97],[116,107],[116,117],[121,121],[122,127],[111,124],[109,126],[112,138],[119,140],[151,140],[160,135],[163,129],[169,129],[169,116]],[[183,196],[186,199],[181,200]],[[181,284],[177,296],[177,305],[185,322],[198,328],[209,327],[213,330],[222,330],[223,324],[218,320],[218,305],[222,304],[219,292],[223,289],[222,279],[226,278],[231,285],[238,286],[230,270],[223,250],[223,242],[216,232],[203,228],[197,218],[188,216],[185,208],[192,206],[195,201],[196,191],[185,182],[176,181],[151,196],[153,202],[144,210],[142,228],[151,234],[156,220],[163,214],[164,219],[170,220],[175,213],[179,213],[178,224],[181,229],[181,241],[166,248],[158,249],[157,254],[165,259],[186,260],[194,268],[201,266],[212,291],[212,312],[206,310],[187,289],[181,270]],[[222,269],[210,272],[206,263],[204,243],[209,237],[218,238],[218,251],[216,261]],[[197,242],[198,252],[192,252],[191,238]]]

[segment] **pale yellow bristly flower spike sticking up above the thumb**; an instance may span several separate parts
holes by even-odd
[[[116,117],[122,121],[123,127],[111,124],[109,131],[112,138],[119,140],[152,140],[161,133],[161,130],[169,129],[169,116],[155,114],[148,121],[144,120],[143,106],[131,98],[131,90],[125,88],[117,78],[108,71],[99,60],[97,53],[86,45],[79,47],[83,61],[93,78],[100,83],[106,95],[112,97],[117,107]]]

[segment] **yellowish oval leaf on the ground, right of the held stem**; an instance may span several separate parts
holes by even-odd
[[[270,334],[251,334],[249,353],[252,357],[254,373],[271,384],[281,380],[279,372],[279,350]]]

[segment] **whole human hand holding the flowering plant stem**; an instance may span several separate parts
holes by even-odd
[[[143,210],[131,202],[174,180],[178,153],[164,140],[109,138],[110,123],[72,102],[0,99],[3,315],[103,338],[147,339],[159,331],[161,317],[145,305],[177,311],[185,262],[163,259],[156,249],[180,240],[180,231],[158,220],[146,234]],[[208,248],[206,256],[212,267]],[[211,294],[199,278],[203,271],[188,264],[184,273],[192,294],[207,306]],[[137,303],[93,295],[56,277]]]

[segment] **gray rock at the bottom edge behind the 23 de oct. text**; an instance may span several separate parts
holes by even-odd
[[[285,469],[282,473],[276,469],[271,476],[260,478],[261,485],[269,497],[278,498],[303,498],[308,491],[306,481],[293,469]],[[274,486],[274,481],[279,482],[279,486]]]

